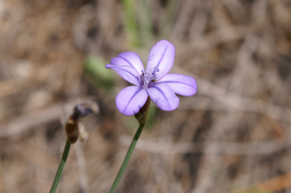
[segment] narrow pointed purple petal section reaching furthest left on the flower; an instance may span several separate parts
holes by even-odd
[[[139,74],[137,74],[136,70],[127,65],[112,65],[112,64],[106,64],[106,68],[111,68],[119,74],[124,80],[129,81],[130,83],[141,86],[141,77]]]

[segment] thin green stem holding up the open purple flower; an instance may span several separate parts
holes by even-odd
[[[115,192],[115,190],[117,188],[117,185],[118,185],[121,177],[123,176],[123,173],[125,171],[125,168],[126,168],[128,162],[129,162],[129,159],[131,157],[131,154],[132,154],[132,152],[134,150],[134,147],[135,147],[135,145],[137,143],[137,140],[138,140],[139,136],[141,135],[143,129],[144,129],[144,126],[139,126],[138,127],[138,129],[137,129],[137,131],[136,131],[136,133],[135,133],[135,135],[133,137],[133,140],[132,140],[132,142],[131,142],[131,144],[129,146],[129,150],[128,150],[126,156],[125,156],[125,159],[124,159],[124,161],[123,161],[123,163],[121,165],[121,168],[120,168],[120,170],[119,170],[119,172],[118,172],[118,174],[117,174],[117,176],[116,176],[116,178],[115,178],[115,180],[113,182],[113,185],[112,185],[109,193],[114,193]]]

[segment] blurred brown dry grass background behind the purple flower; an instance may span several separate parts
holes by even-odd
[[[198,92],[157,111],[117,193],[291,192],[291,1],[137,0],[139,48],[124,12],[118,0],[0,1],[0,192],[49,192],[77,101],[101,112],[83,120],[90,139],[72,145],[57,192],[108,192],[134,132],[114,104],[127,83],[114,74],[100,90],[84,61],[129,50],[146,61],[160,39]]]

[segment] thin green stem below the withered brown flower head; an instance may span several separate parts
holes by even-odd
[[[57,187],[59,185],[60,179],[62,177],[64,168],[65,168],[65,161],[66,161],[66,159],[68,158],[68,155],[69,155],[70,147],[71,147],[71,143],[66,141],[64,153],[63,153],[63,156],[62,156],[62,160],[60,162],[58,171],[57,171],[56,176],[55,176],[55,178],[53,180],[53,183],[51,185],[49,193],[55,193],[56,190],[57,190]]]

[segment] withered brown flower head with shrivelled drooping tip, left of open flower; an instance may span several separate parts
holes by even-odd
[[[65,123],[65,132],[67,141],[74,144],[78,138],[81,142],[87,142],[89,134],[84,125],[81,123],[80,118],[88,115],[89,113],[98,113],[99,106],[97,103],[80,103],[74,108],[73,114],[70,114]]]

